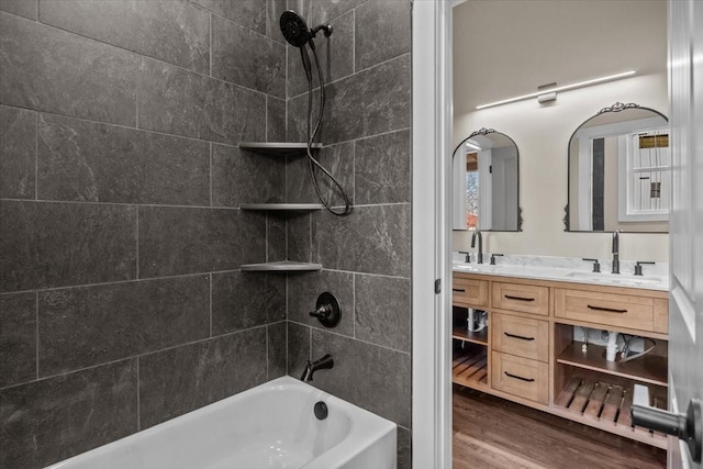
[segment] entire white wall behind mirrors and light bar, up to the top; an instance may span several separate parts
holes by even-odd
[[[635,102],[665,115],[667,22],[663,1],[480,1],[454,9],[454,147],[492,127],[520,152],[523,232],[488,233],[487,250],[610,258],[611,234],[566,233],[567,157],[572,132],[600,109]],[[480,66],[479,66],[480,65]],[[476,105],[558,85],[637,69],[634,78],[475,111]],[[454,249],[470,236],[454,232]],[[667,234],[621,236],[621,259],[668,260]]]

